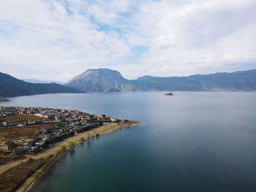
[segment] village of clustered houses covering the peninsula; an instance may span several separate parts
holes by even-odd
[[[4,130],[33,130],[33,138],[0,140],[0,151],[9,155],[29,155],[46,150],[56,142],[111,123],[125,123],[106,115],[91,115],[78,110],[42,107],[0,107],[0,135]],[[23,131],[24,132],[24,131]],[[2,143],[1,143],[2,142]]]

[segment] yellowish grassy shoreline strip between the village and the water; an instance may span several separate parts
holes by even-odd
[[[74,150],[75,147],[82,144],[83,142],[88,141],[89,139],[92,139],[94,137],[99,137],[99,135],[102,134],[110,134],[115,131],[117,131],[119,128],[122,127],[133,127],[133,126],[139,126],[140,123],[135,120],[129,120],[129,123],[113,123],[108,126],[100,126],[99,128],[94,128],[90,131],[86,131],[82,134],[77,134],[74,137],[70,137],[69,139],[64,140],[63,142],[60,142],[58,145],[54,146],[52,149],[50,149],[47,153],[42,153],[39,155],[34,156],[34,160],[46,160],[50,159],[49,164],[43,165],[40,169],[35,171],[33,174],[31,174],[24,183],[16,190],[16,191],[34,191],[34,189],[37,187],[37,185],[41,182],[41,180],[45,177],[45,175],[50,171],[50,169],[53,168],[55,164],[58,163],[58,161],[63,158],[67,153]],[[83,139],[82,139],[83,138]],[[72,144],[74,143],[74,144]],[[71,146],[72,144],[72,146]],[[61,146],[66,146],[67,150],[64,150],[62,153],[60,152]],[[26,160],[24,160],[26,161]]]

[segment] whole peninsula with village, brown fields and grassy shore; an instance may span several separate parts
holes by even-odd
[[[0,191],[31,191],[76,145],[138,124],[78,110],[0,107]]]

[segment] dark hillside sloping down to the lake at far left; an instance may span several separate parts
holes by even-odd
[[[31,83],[0,72],[0,97],[29,96],[44,93],[82,93],[56,83]]]

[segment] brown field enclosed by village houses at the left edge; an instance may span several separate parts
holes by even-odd
[[[42,128],[53,128],[53,125],[24,126],[12,128],[0,128],[0,142],[8,142],[18,139],[33,139]]]

